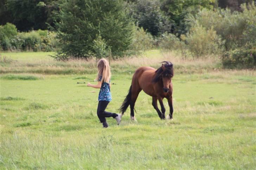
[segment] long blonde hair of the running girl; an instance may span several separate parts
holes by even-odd
[[[100,76],[102,76],[101,82],[109,83],[111,73],[110,73],[110,66],[109,66],[108,60],[104,58],[100,59],[97,63],[97,68],[98,68],[97,80],[100,78]]]

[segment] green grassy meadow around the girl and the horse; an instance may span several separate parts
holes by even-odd
[[[222,69],[217,60],[182,60],[159,50],[111,61],[108,111],[119,112],[137,67],[168,60],[174,113],[173,120],[160,120],[141,92],[137,122],[128,109],[120,125],[108,118],[103,129],[99,90],[86,86],[95,83],[95,59],[61,62],[37,54],[1,54],[0,169],[256,168],[255,70]]]

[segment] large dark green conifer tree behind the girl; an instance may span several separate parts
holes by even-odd
[[[56,23],[60,51],[57,56],[89,57],[96,53],[94,40],[101,35],[106,49],[123,54],[131,43],[132,26],[123,1],[70,0],[60,5]]]

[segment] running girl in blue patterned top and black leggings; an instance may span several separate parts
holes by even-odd
[[[100,122],[103,124],[103,128],[108,127],[108,123],[106,121],[105,117],[113,117],[116,119],[117,124],[119,125],[121,122],[121,114],[115,114],[105,111],[105,109],[108,106],[108,103],[111,101],[111,94],[110,94],[110,67],[109,63],[106,59],[100,59],[97,63],[98,68],[98,84],[90,84],[88,83],[87,86],[93,87],[93,88],[101,88],[100,93],[98,96],[98,109],[97,109],[97,115],[100,119]]]

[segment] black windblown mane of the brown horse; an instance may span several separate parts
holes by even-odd
[[[162,67],[158,68],[155,73],[155,77],[153,78],[152,82],[156,83],[162,80],[162,75],[168,76],[170,79],[173,77],[173,64],[169,61],[163,61],[160,63],[164,63],[165,70],[162,69]]]

